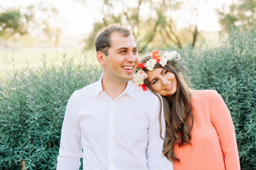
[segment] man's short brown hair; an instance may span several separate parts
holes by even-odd
[[[108,49],[111,46],[111,33],[120,33],[123,37],[129,37],[131,32],[128,28],[123,26],[111,25],[100,31],[95,37],[96,51],[101,51],[108,56]]]

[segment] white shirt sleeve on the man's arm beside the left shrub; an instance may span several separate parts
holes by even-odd
[[[57,158],[57,170],[79,170],[82,158],[81,130],[74,121],[74,94],[70,97],[61,128],[61,141]]]

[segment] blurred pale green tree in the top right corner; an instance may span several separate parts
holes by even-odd
[[[224,31],[228,31],[230,26],[238,26],[241,23],[250,27],[256,18],[255,7],[255,0],[238,0],[236,4],[231,4],[228,9],[223,5],[221,9],[216,9],[219,15],[219,24]]]

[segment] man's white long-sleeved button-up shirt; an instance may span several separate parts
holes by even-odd
[[[74,91],[61,129],[57,170],[172,170],[163,157],[158,97],[128,81],[112,100],[98,82]],[[164,117],[161,113],[162,137]],[[82,152],[83,150],[83,152]]]

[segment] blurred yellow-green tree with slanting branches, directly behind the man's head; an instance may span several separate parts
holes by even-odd
[[[89,3],[88,0],[77,0],[83,4]],[[100,22],[95,22],[93,30],[89,38],[85,39],[86,48],[94,46],[94,38],[98,31],[108,26],[109,24],[120,24],[123,26],[130,26],[132,28],[134,37],[140,48],[146,49],[150,44],[159,42],[162,46],[175,45],[182,48],[180,35],[176,29],[175,22],[172,14],[180,9],[181,0],[134,0],[136,5],[131,6],[124,0],[98,0],[102,1],[102,14],[103,18]],[[198,1],[198,0],[197,0]],[[132,3],[135,4],[135,3]],[[118,10],[117,10],[118,9]],[[193,11],[197,8],[195,7]],[[194,15],[191,11],[191,15]],[[197,15],[197,13],[196,13]],[[197,40],[198,30],[197,23],[189,26],[192,46],[195,45]],[[157,39],[156,39],[157,37]]]

